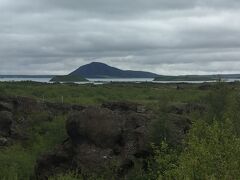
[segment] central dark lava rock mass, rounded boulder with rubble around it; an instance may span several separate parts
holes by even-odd
[[[114,105],[117,106],[122,107],[122,104]],[[113,163],[118,172],[116,177],[123,177],[137,158],[149,154],[150,115],[138,113],[135,108],[128,111],[131,106],[103,107],[88,107],[69,116],[66,123],[69,139],[52,153],[39,158],[38,179],[76,169],[101,174],[111,169]]]

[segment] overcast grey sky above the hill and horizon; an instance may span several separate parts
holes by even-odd
[[[92,61],[240,73],[240,1],[0,0],[0,74],[65,74]]]

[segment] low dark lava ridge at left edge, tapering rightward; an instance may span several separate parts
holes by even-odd
[[[57,114],[82,110],[83,106],[41,102],[27,97],[0,97],[0,146],[28,138],[25,131],[31,126],[32,114],[45,112],[40,121],[51,121]]]

